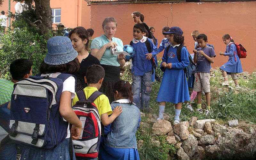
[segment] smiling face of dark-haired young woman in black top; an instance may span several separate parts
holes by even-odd
[[[84,41],[82,41],[82,39],[76,33],[73,33],[70,36],[70,40],[76,52],[81,52],[85,50],[85,44],[87,42],[87,39],[84,39]]]

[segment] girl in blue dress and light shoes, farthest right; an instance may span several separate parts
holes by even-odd
[[[238,87],[239,84],[236,73],[243,72],[243,68],[241,65],[240,58],[237,55],[236,45],[234,44],[234,40],[232,39],[232,37],[230,37],[228,34],[225,34],[222,37],[222,40],[224,44],[226,44],[227,46],[226,51],[224,53],[220,52],[220,55],[228,56],[228,62],[220,67],[220,71],[222,72],[225,79],[223,85],[229,85],[227,74],[231,74],[232,79],[235,81],[235,84]]]

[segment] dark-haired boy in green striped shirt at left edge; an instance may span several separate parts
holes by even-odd
[[[14,60],[10,65],[10,72],[12,75],[11,81],[0,79],[0,105],[11,100],[13,84],[22,78],[32,76],[32,62],[28,59]],[[10,112],[6,116],[10,117]],[[6,131],[0,126],[0,132],[4,133]],[[16,156],[17,145],[9,137],[6,137],[1,142],[0,159],[16,159]]]

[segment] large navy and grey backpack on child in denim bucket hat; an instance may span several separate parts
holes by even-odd
[[[12,140],[50,149],[66,138],[68,122],[59,107],[63,82],[69,76],[30,76],[14,84],[9,124]]]

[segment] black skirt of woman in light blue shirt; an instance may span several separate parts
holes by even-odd
[[[120,67],[101,65],[105,70],[105,77],[100,87],[100,92],[103,92],[108,97],[109,103],[114,101],[114,84],[120,80]]]

